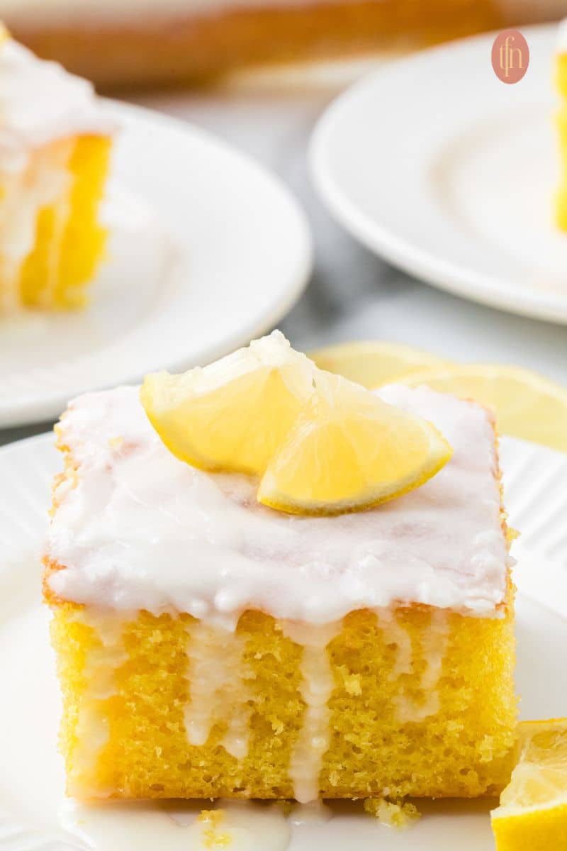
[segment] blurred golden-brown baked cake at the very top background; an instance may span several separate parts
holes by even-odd
[[[105,86],[407,49],[562,12],[565,0],[0,0],[18,37]]]

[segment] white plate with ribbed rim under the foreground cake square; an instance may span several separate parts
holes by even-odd
[[[49,487],[61,467],[49,436],[35,437],[0,450],[0,851],[54,851],[49,844],[60,831],[62,770],[56,756],[58,691],[48,646],[47,613],[40,604],[39,553],[46,526]],[[567,456],[511,438],[502,440],[502,469],[510,521],[522,530],[515,545],[519,565],[517,605],[517,688],[524,718],[567,714]],[[360,804],[333,805],[330,821],[308,820],[291,826],[291,851],[492,851],[490,802],[422,802],[423,819],[411,831],[392,834],[362,814]],[[201,805],[181,808],[194,820]],[[105,812],[108,812],[107,810]],[[100,851],[156,848],[128,841],[139,813],[122,805],[111,835]],[[162,851],[195,851],[169,837],[171,820],[159,804],[146,808],[144,835],[165,831]],[[82,819],[99,816],[83,808]],[[252,837],[262,825],[247,809]],[[284,825],[285,826],[285,825]],[[274,827],[274,829],[272,829]],[[278,833],[278,828],[280,832]],[[290,825],[287,825],[287,830]],[[177,836],[173,831],[174,837]],[[153,834],[151,834],[153,836]],[[122,837],[122,838],[121,838]],[[235,851],[283,851],[281,824],[270,826],[270,842],[247,839]],[[67,837],[69,842],[71,840]],[[154,837],[155,839],[155,837]],[[285,837],[284,837],[285,839]],[[113,840],[113,842],[111,842]],[[73,840],[74,848],[83,848]],[[92,846],[91,846],[92,847]],[[232,847],[232,846],[231,846]]]

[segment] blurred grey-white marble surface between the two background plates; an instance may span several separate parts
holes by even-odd
[[[315,237],[315,271],[280,323],[300,349],[339,340],[394,340],[457,361],[513,363],[567,385],[567,327],[475,305],[409,277],[362,248],[338,226],[309,179],[309,135],[326,104],[360,73],[241,77],[201,94],[146,94],[134,102],[218,134],[279,174],[305,208]],[[0,431],[0,443],[51,423]]]

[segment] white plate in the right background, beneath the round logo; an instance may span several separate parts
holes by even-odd
[[[399,60],[341,95],[311,143],[315,185],[377,254],[452,293],[567,323],[558,183],[555,27],[526,27],[515,85],[490,64],[495,34]]]

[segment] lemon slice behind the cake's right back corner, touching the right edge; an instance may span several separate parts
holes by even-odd
[[[425,369],[400,379],[442,393],[475,399],[494,408],[502,434],[523,437],[567,452],[567,390],[526,369],[490,365]]]

